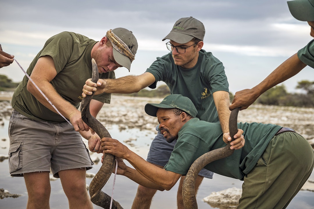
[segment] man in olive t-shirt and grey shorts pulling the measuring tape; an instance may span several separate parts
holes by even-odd
[[[27,70],[31,79],[24,76],[14,91],[9,123],[10,174],[24,176],[27,208],[49,208],[50,170],[60,178],[69,208],[93,208],[85,177],[93,162],[82,136],[89,140],[90,151],[102,150],[99,136],[89,130],[78,110],[82,88],[92,76],[92,59],[100,78],[115,78],[118,67],[130,70],[137,47],[132,32],[124,28],[109,30],[98,42],[62,32],[48,39],[36,55]],[[91,114],[96,117],[110,99],[110,93],[93,97]]]

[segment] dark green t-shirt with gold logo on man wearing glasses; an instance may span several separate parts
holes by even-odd
[[[229,83],[223,64],[211,52],[201,50],[198,62],[191,69],[175,65],[172,54],[157,57],[146,70],[155,76],[156,82],[150,88],[156,88],[157,81],[164,81],[171,94],[181,94],[194,103],[197,118],[208,122],[219,122],[213,93],[229,92]]]

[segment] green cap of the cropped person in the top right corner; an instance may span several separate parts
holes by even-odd
[[[290,13],[301,21],[314,21],[314,0],[288,1]]]

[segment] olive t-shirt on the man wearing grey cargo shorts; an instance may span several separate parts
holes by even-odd
[[[92,77],[91,50],[97,42],[72,32],[62,32],[48,39],[27,69],[30,75],[41,56],[52,57],[57,76],[50,82],[58,94],[76,108],[82,101],[85,81]],[[114,72],[99,74],[99,78],[115,78]],[[64,122],[59,114],[42,105],[27,91],[27,76],[24,76],[12,97],[12,107],[22,115],[39,121]],[[41,86],[38,86],[41,88]],[[47,96],[47,95],[46,95]],[[101,94],[93,99],[110,103],[111,94]]]

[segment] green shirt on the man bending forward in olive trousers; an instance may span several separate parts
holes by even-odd
[[[214,173],[243,180],[262,156],[269,141],[282,128],[263,123],[238,123],[244,131],[245,146],[224,159],[216,160],[204,168]],[[208,123],[193,118],[183,125],[165,170],[186,175],[192,163],[213,149],[225,147],[219,123]]]

